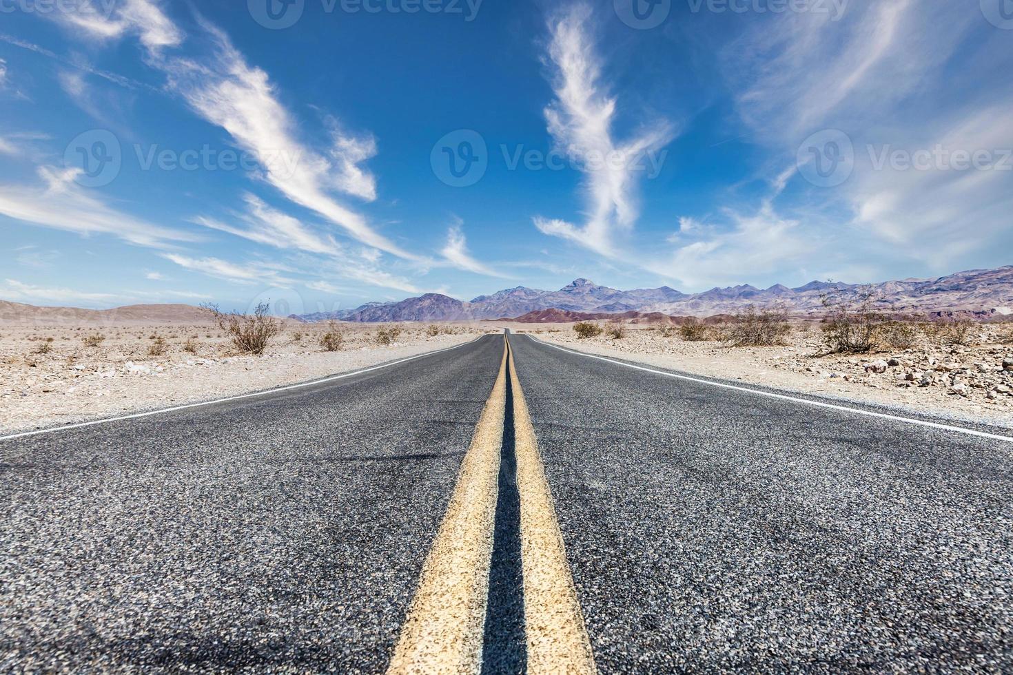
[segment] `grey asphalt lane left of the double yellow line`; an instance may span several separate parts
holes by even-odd
[[[501,358],[0,442],[0,670],[382,672]]]

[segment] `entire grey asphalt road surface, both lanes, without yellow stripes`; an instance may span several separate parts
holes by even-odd
[[[1013,669],[1013,443],[511,344],[601,672]],[[501,357],[0,441],[0,670],[382,672]]]

